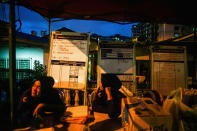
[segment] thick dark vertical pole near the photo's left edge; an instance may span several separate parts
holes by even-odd
[[[16,34],[15,34],[15,0],[10,0],[9,12],[9,88],[10,88],[10,124],[14,127],[14,90],[16,89]]]

